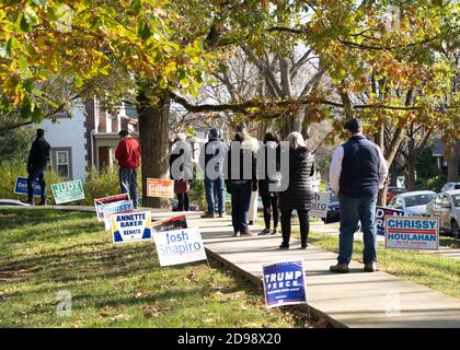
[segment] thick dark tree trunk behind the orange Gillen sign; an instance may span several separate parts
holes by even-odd
[[[146,93],[138,95],[139,136],[142,152],[142,206],[170,208],[165,198],[147,197],[147,178],[169,178],[168,120],[170,98],[162,97],[151,105]]]

